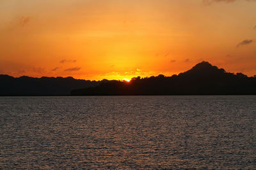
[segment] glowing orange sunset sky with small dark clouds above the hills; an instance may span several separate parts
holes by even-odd
[[[1,0],[0,74],[131,79],[201,61],[256,75],[253,0]]]

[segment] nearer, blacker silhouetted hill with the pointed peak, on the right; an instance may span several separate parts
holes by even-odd
[[[172,77],[107,81],[95,87],[74,89],[71,95],[256,95],[256,78],[228,73],[203,61]]]

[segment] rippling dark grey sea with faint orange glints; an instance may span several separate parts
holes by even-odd
[[[0,97],[0,169],[256,169],[256,96]]]

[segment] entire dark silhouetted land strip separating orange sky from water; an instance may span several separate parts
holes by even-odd
[[[205,61],[172,77],[134,77],[130,82],[0,75],[0,96],[50,95],[256,95],[256,77],[228,73]]]

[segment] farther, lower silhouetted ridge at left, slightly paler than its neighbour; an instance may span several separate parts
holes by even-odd
[[[100,82],[84,81],[73,77],[41,77],[22,76],[14,78],[0,75],[0,95],[70,95],[76,88],[97,86]]]

